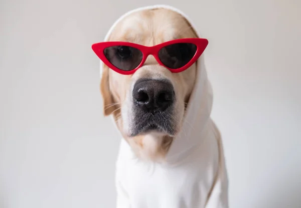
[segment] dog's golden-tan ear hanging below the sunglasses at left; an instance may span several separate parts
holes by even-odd
[[[107,66],[103,67],[101,80],[100,80],[100,92],[103,100],[103,114],[105,116],[110,115],[115,109],[114,99],[110,90],[109,84],[109,69]]]

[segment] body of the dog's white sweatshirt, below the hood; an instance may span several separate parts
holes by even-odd
[[[117,208],[228,207],[227,175],[211,120],[206,129],[202,144],[176,165],[139,161],[122,139],[116,165]]]

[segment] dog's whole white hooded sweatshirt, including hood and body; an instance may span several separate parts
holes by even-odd
[[[105,40],[125,16],[152,8],[174,10],[194,27],[189,17],[179,9],[167,5],[146,6],[131,10],[117,19]],[[101,73],[103,63],[100,65]],[[223,146],[210,118],[212,89],[203,55],[197,65],[197,80],[184,126],[170,147],[166,163],[140,161],[128,143],[121,139],[116,163],[117,208],[228,207],[228,178]]]

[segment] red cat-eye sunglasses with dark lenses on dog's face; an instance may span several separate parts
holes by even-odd
[[[178,73],[190,67],[207,45],[205,38],[183,38],[154,46],[123,41],[99,42],[94,43],[92,49],[108,67],[121,74],[134,73],[148,55],[153,55],[160,65]]]

